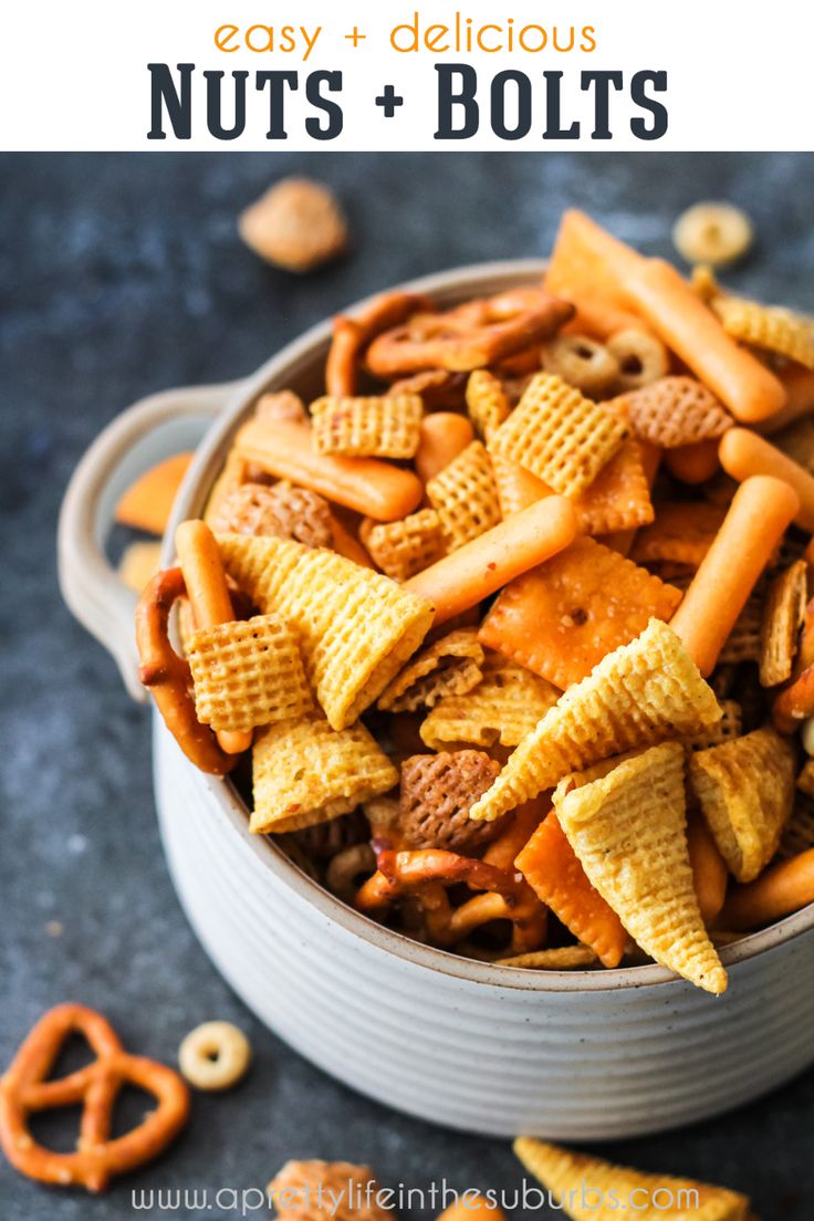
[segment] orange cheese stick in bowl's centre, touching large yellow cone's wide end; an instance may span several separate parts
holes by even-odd
[[[577,519],[564,496],[548,496],[464,543],[404,582],[436,607],[434,624],[469,610],[515,576],[574,542]]]

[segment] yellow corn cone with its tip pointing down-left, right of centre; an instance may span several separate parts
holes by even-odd
[[[567,775],[665,737],[715,725],[721,709],[676,634],[659,619],[608,653],[524,737],[470,818],[498,818]]]

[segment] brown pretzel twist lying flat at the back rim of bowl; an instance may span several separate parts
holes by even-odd
[[[376,377],[384,379],[425,369],[466,372],[550,338],[572,314],[572,305],[539,288],[514,288],[414,316],[377,336],[365,360]]]

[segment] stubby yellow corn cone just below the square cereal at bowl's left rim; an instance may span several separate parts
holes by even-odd
[[[264,729],[251,752],[249,830],[294,832],[347,814],[387,792],[399,774],[361,724],[331,729],[322,717]]]

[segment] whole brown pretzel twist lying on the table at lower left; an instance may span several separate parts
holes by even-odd
[[[46,1081],[74,1032],[85,1037],[96,1059],[67,1077]],[[111,1140],[116,1098],[128,1084],[153,1094],[159,1105],[138,1127]],[[83,1111],[74,1153],[55,1153],[34,1140],[28,1131],[32,1114],[78,1104]],[[12,1166],[41,1183],[74,1183],[89,1192],[104,1190],[115,1175],[157,1156],[188,1114],[189,1092],[178,1073],[128,1055],[101,1013],[83,1005],[59,1005],[45,1013],[0,1081],[0,1144]]]

